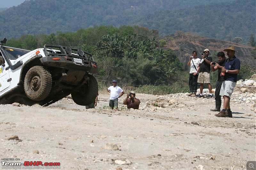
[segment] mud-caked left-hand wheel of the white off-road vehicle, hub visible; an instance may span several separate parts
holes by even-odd
[[[24,80],[24,90],[29,99],[44,100],[52,89],[52,75],[42,66],[34,66],[28,70]]]

